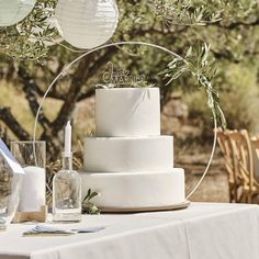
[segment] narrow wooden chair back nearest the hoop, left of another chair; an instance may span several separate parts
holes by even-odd
[[[223,153],[224,164],[227,171],[229,202],[238,202],[237,190],[239,188],[239,184],[234,167],[234,154],[230,146],[230,139],[227,136],[226,132],[224,132],[222,128],[217,128],[217,143],[219,145],[221,151]]]

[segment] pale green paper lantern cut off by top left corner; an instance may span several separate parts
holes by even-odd
[[[22,21],[33,10],[36,0],[0,0],[0,26]]]

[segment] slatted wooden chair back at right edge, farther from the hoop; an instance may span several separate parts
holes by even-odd
[[[259,183],[254,171],[251,142],[246,130],[227,132],[234,158],[234,171],[237,185],[241,192],[237,202],[251,203],[259,194]]]

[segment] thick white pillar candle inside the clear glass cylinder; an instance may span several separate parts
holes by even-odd
[[[25,174],[20,196],[20,211],[32,212],[40,211],[42,205],[45,205],[46,198],[46,173],[42,167],[25,167],[23,168]]]

